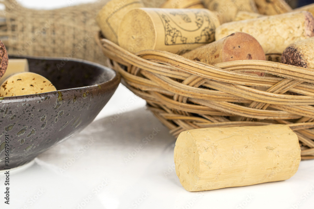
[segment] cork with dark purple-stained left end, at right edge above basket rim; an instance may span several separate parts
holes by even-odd
[[[314,69],[314,37],[290,44],[282,53],[284,64]]]

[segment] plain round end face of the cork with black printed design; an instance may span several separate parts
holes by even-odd
[[[149,14],[142,9],[129,11],[121,21],[118,43],[131,53],[153,50],[156,43],[156,31]]]

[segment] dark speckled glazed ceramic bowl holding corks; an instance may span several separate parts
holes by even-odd
[[[30,71],[46,77],[58,91],[0,97],[0,170],[24,165],[81,131],[106,105],[120,82],[112,69],[84,60],[19,58],[27,58]]]

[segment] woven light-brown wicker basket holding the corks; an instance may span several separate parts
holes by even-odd
[[[287,124],[301,158],[314,159],[314,70],[261,60],[207,65],[158,50],[132,54],[101,33],[96,42],[123,85],[175,137],[195,128]]]

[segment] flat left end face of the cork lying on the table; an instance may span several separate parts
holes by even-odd
[[[199,155],[189,131],[180,133],[174,149],[176,175],[187,191],[201,191],[197,187],[199,176]]]

